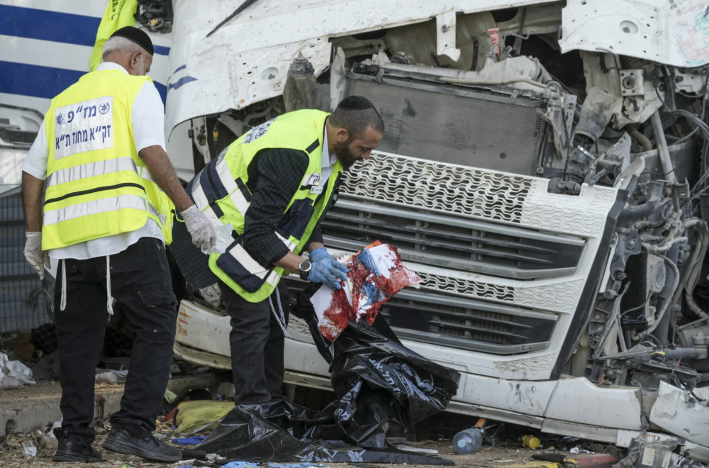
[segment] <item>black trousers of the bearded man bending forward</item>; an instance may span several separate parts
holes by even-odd
[[[229,342],[234,379],[234,403],[251,404],[284,399],[284,334],[271,310],[280,316],[277,295],[281,296],[284,325],[288,324],[289,294],[280,282],[269,299],[252,303],[223,282],[219,282],[226,313],[231,317]]]

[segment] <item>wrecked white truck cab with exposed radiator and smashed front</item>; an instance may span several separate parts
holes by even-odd
[[[381,313],[462,374],[450,411],[667,433],[709,461],[705,5],[513,3],[262,1],[220,24],[226,2],[176,1],[168,130],[190,127],[199,170],[280,113],[366,96],[384,139],[325,245],[390,243],[423,279]],[[190,288],[176,355],[228,369],[228,332],[218,289]],[[286,381],[329,389],[289,332]]]

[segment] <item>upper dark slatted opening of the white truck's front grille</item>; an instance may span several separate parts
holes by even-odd
[[[508,278],[569,274],[584,247],[583,241],[568,236],[364,204],[345,197],[322,225],[325,243],[331,247],[357,251],[380,240],[396,246],[406,261]],[[430,286],[449,290],[460,286],[445,283]]]

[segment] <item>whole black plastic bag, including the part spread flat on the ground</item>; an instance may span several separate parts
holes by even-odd
[[[299,303],[303,303],[303,296]],[[196,452],[274,462],[452,464],[386,447],[420,420],[444,411],[460,374],[404,347],[382,316],[350,322],[334,342],[320,334],[312,307],[294,307],[330,363],[337,400],[322,411],[289,401],[237,406]]]

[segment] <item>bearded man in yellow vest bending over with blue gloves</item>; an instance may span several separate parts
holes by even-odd
[[[288,296],[282,274],[340,289],[347,267],[323,245],[320,220],[337,199],[343,169],[368,160],[384,122],[349,96],[332,114],[303,109],[252,128],[197,174],[187,191],[232,242],[209,257],[231,317],[235,403],[283,399]],[[309,252],[308,260],[301,255]]]

